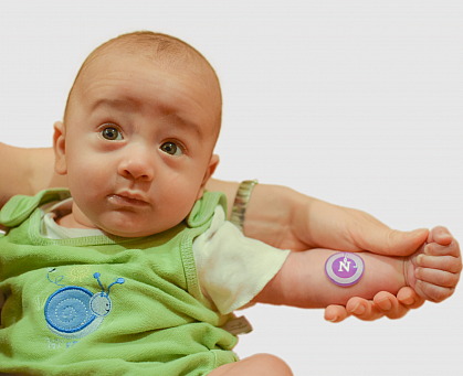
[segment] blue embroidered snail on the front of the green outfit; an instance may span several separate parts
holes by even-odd
[[[82,339],[98,329],[112,309],[111,287],[125,282],[124,278],[118,278],[105,293],[99,276],[99,272],[93,275],[102,292],[93,294],[82,287],[66,286],[50,296],[45,303],[45,320],[54,334],[65,339]]]

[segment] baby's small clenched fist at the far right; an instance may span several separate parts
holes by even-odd
[[[432,302],[441,302],[453,293],[462,270],[459,243],[442,226],[434,227],[427,243],[404,262],[406,282]]]

